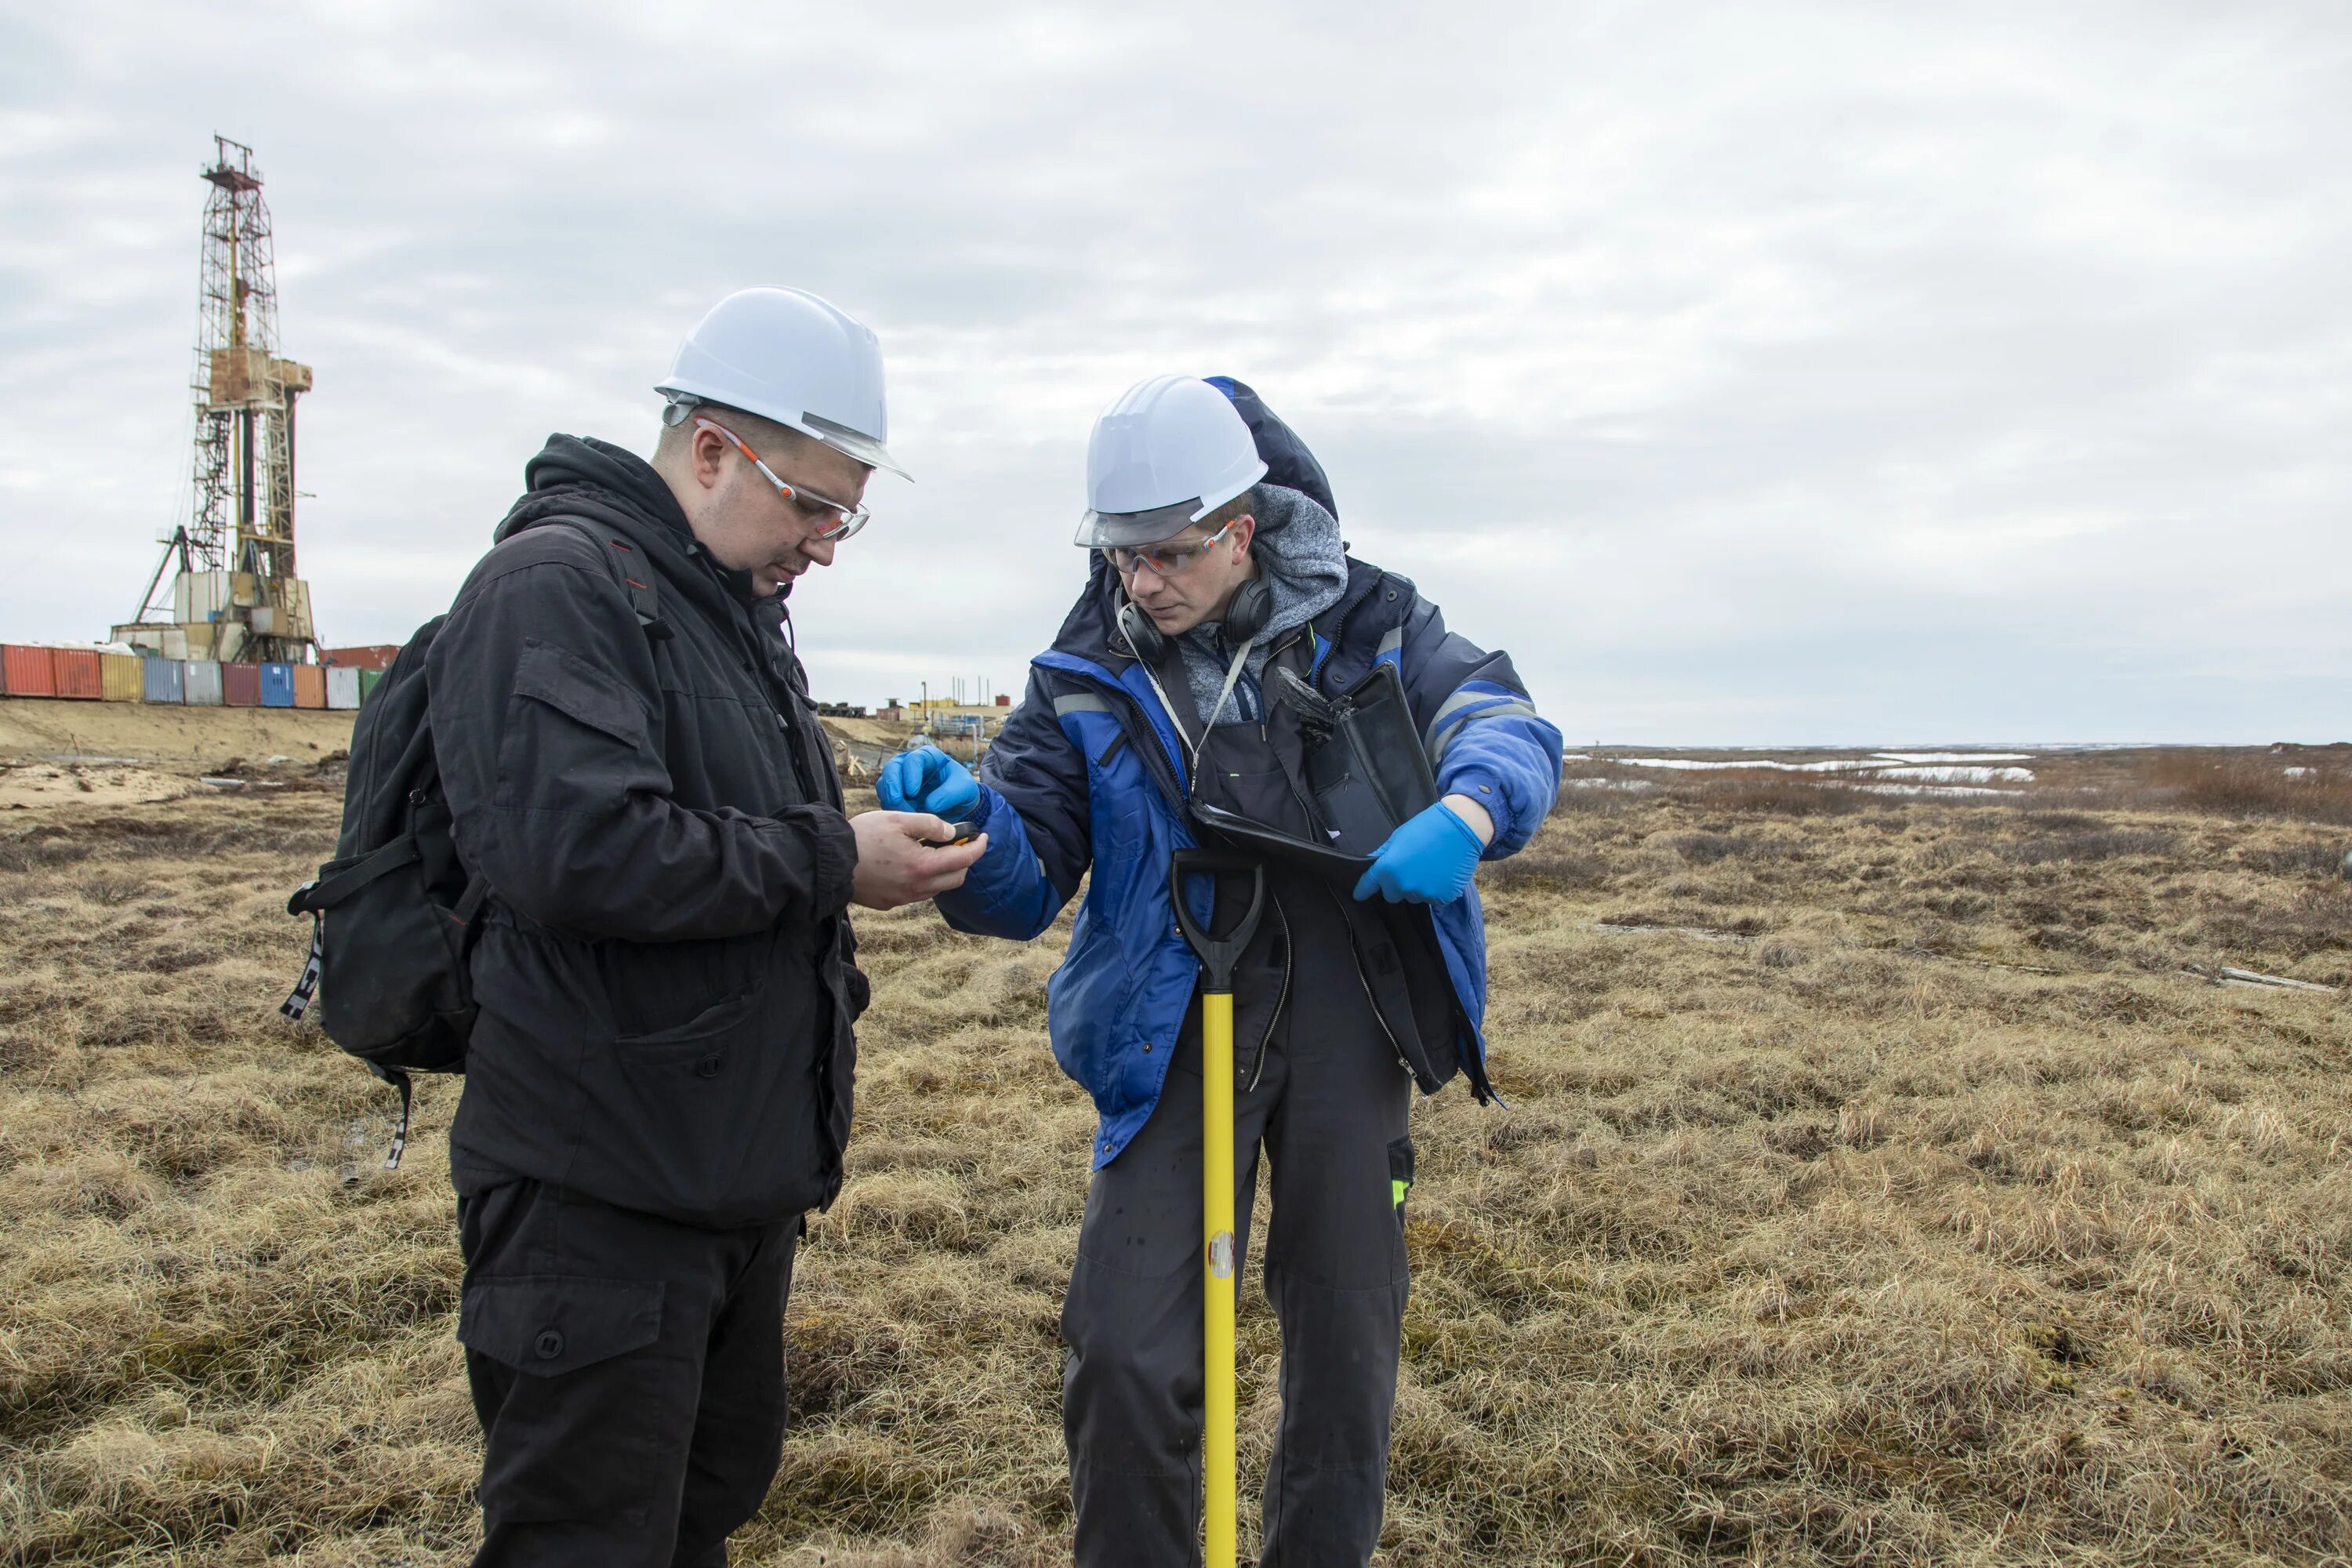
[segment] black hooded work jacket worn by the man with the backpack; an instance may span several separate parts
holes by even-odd
[[[557,435],[433,642],[433,745],[492,898],[449,1135],[710,1227],[840,1187],[866,1006],[856,844],[783,595],[696,545],[637,456]]]

